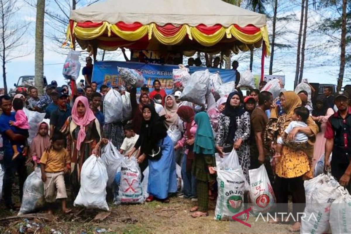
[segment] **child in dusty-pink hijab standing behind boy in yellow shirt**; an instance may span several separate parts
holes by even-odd
[[[34,168],[40,166],[40,158],[44,151],[50,146],[49,125],[46,122],[38,124],[38,133],[33,138],[29,147],[28,163],[32,160]]]

